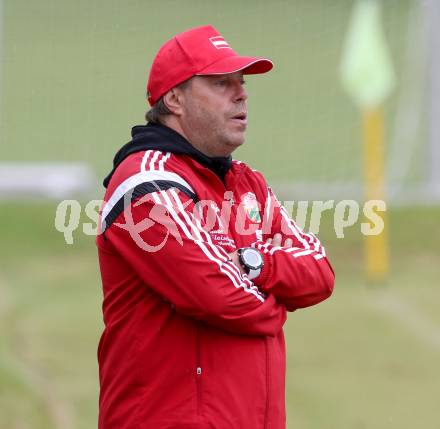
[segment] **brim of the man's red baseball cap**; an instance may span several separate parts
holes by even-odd
[[[222,58],[208,67],[200,70],[196,75],[216,75],[243,72],[243,74],[261,74],[267,73],[273,67],[271,60],[267,58],[241,57],[234,55]]]

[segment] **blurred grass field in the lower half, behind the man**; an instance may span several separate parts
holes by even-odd
[[[55,205],[0,206],[0,428],[96,426],[101,291],[92,237],[65,244]],[[440,209],[391,212],[392,273],[368,286],[355,227],[321,239],[326,303],[290,315],[288,428],[437,429]]]

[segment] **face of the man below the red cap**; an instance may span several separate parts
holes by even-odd
[[[244,143],[247,94],[242,73],[195,76],[183,91],[180,125],[208,156],[229,156]]]

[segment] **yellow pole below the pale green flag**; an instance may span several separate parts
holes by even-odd
[[[384,118],[382,108],[364,110],[364,183],[365,199],[384,200]],[[386,212],[377,213],[384,222],[378,235],[365,236],[365,262],[367,278],[382,282],[389,271],[388,223]]]

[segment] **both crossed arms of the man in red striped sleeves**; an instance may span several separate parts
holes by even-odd
[[[316,304],[331,293],[333,273],[326,258],[306,249],[311,244],[296,231],[282,233],[281,212],[273,222],[280,223],[280,232],[254,243],[265,266],[251,281],[236,253],[228,255],[214,244],[185,204],[186,197],[175,189],[153,193],[142,204],[132,203],[130,222],[124,213],[120,220],[125,222],[106,232],[146,287],[176,311],[235,334],[276,335],[286,310]],[[138,230],[146,218],[154,222]],[[150,250],[143,248],[147,243]]]

